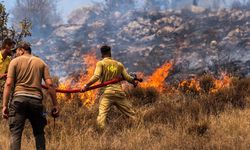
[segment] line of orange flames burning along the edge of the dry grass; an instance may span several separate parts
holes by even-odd
[[[97,58],[95,54],[87,54],[83,57],[84,62],[87,65],[87,69],[84,74],[82,74],[77,80],[74,77],[68,78],[62,84],[59,84],[59,89],[72,89],[72,88],[79,88],[82,87],[84,83],[86,83],[91,76],[94,74],[95,65],[97,63]],[[154,87],[159,92],[163,92],[167,89],[165,79],[169,75],[169,71],[172,68],[172,62],[165,62],[161,67],[156,69],[151,76],[144,77],[144,82],[140,83],[140,86],[143,88],[147,87]],[[143,77],[143,73],[139,75]],[[72,81],[76,80],[76,83]],[[231,77],[226,75],[225,73],[222,74],[221,79],[213,79],[214,87],[209,91],[210,93],[217,92],[219,89],[228,87],[231,83]],[[183,88],[186,92],[201,92],[201,87],[199,83],[199,79],[194,77],[190,80],[181,81],[179,84],[179,88]],[[170,87],[171,89],[171,87]],[[175,90],[176,91],[176,90]],[[170,92],[170,90],[169,90]],[[57,94],[58,99],[66,100],[66,101],[73,101],[75,98],[78,98],[84,105],[89,107],[94,104],[97,95],[97,90],[91,90],[81,94],[75,94],[74,97],[71,94]]]

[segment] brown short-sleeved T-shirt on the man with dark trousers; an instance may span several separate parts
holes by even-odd
[[[22,55],[10,62],[7,78],[14,78],[14,95],[28,94],[42,97],[42,79],[50,79],[48,65],[40,58]]]

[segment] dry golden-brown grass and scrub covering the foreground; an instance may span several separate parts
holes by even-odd
[[[209,78],[204,89],[211,85]],[[98,104],[91,109],[79,101],[61,103],[61,117],[53,128],[46,127],[49,150],[80,149],[249,149],[250,78],[238,80],[217,93],[198,96],[180,93],[159,94],[155,89],[128,91],[138,113],[135,122],[115,108],[108,127],[98,132],[95,119]],[[7,122],[0,121],[0,150],[7,149]],[[23,134],[22,149],[34,149],[30,125]]]

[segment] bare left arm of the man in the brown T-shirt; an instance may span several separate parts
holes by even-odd
[[[7,78],[7,81],[5,82],[5,85],[4,85],[2,115],[3,115],[3,118],[5,119],[8,119],[8,115],[9,115],[8,103],[9,103],[10,91],[11,91],[11,87],[13,83],[14,83],[13,78]]]

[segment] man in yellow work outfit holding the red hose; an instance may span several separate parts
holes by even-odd
[[[135,80],[130,76],[122,63],[111,58],[111,48],[109,46],[101,47],[102,60],[97,62],[94,75],[84,85],[83,90],[100,80],[101,83],[112,79],[123,77],[126,81],[135,84]],[[99,114],[97,117],[97,125],[104,128],[106,125],[107,113],[112,105],[115,105],[122,113],[135,119],[135,112],[131,107],[131,103],[126,99],[125,92],[122,90],[121,83],[110,84],[101,89],[102,96],[99,104]]]

